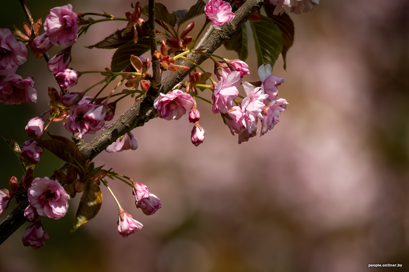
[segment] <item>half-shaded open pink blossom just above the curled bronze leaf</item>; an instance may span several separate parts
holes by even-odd
[[[105,124],[106,108],[104,105],[78,104],[72,108],[70,115],[65,120],[65,129],[70,132],[78,132],[83,138],[85,133],[94,134]]]

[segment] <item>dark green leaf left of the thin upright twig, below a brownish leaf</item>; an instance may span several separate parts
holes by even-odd
[[[111,71],[113,73],[122,71],[130,64],[131,55],[140,57],[149,50],[151,50],[151,45],[148,37],[140,38],[136,44],[133,44],[132,41],[127,42],[120,46],[112,56]]]

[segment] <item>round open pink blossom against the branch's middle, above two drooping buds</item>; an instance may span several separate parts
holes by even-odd
[[[173,90],[166,95],[160,95],[153,102],[153,107],[157,109],[157,115],[165,120],[178,120],[193,107],[193,98],[189,93],[180,90]]]

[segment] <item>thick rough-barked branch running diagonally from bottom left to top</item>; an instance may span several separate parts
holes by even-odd
[[[241,26],[247,21],[247,19],[261,8],[263,0],[247,0],[243,6],[235,13],[235,18],[229,24],[222,26],[221,30],[214,31],[209,39],[203,44],[207,53],[213,53],[223,43],[230,40],[231,37],[240,30]],[[197,64],[201,64],[207,57],[202,55],[196,55],[193,60]],[[168,93],[173,86],[178,84],[184,79],[193,69],[195,65],[190,62],[184,61],[181,65],[189,66],[189,71],[174,71],[170,73],[161,81],[160,92]],[[80,151],[84,159],[93,159],[105,148],[107,148],[112,142],[124,135],[128,131],[135,127],[143,126],[150,119],[155,117],[155,110],[153,109],[152,99],[148,99],[146,94],[133,105],[126,113],[121,115],[119,119],[104,130],[101,134],[95,137],[91,142],[81,147]],[[67,164],[61,166],[61,170],[66,170]],[[27,207],[28,201],[22,201],[20,205],[15,208],[11,214],[4,219],[0,224],[0,243],[5,241],[15,230],[17,230],[24,222],[23,212]]]

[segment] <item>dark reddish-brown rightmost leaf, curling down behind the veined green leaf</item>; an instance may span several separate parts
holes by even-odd
[[[285,62],[285,57],[287,55],[288,50],[294,43],[294,22],[292,22],[290,16],[287,13],[283,13],[282,15],[273,15],[275,6],[270,4],[269,2],[264,4],[265,13],[267,16],[273,20],[274,24],[281,30],[283,35],[283,50],[281,51],[281,55],[283,56],[284,60],[284,69],[287,68],[287,64]]]

